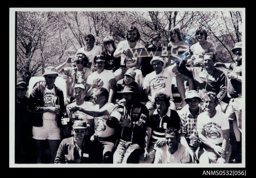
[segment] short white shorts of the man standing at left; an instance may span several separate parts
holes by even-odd
[[[36,140],[60,140],[60,129],[56,120],[43,119],[42,126],[33,126],[32,133],[32,138]]]

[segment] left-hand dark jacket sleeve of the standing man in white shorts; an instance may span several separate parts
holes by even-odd
[[[28,103],[28,109],[30,112],[32,113],[42,113],[44,112],[44,107],[41,107],[41,106],[38,106],[39,103],[41,102],[44,102],[44,101],[39,101],[40,98],[39,95],[40,94],[40,91],[39,91],[39,86],[40,85],[37,85],[33,88],[30,96],[29,96],[29,103]]]

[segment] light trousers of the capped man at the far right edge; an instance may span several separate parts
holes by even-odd
[[[237,119],[238,128],[242,132],[242,97],[232,98],[229,101],[226,110],[226,116],[231,119]]]

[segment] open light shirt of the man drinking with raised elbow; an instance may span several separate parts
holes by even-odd
[[[92,71],[89,69],[86,70],[85,68],[81,71],[81,76],[78,76],[77,67],[68,67],[62,69],[62,71],[65,75],[67,75],[66,84],[67,84],[67,97],[70,97],[73,95],[73,89],[75,84],[82,83],[84,87],[86,88],[87,78],[90,74],[92,74]]]

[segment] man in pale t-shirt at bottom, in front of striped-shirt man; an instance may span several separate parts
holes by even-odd
[[[189,163],[189,153],[177,140],[179,133],[175,128],[165,130],[166,145],[156,149],[156,163]]]

